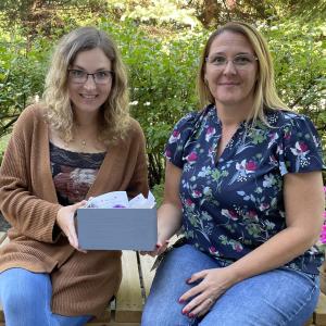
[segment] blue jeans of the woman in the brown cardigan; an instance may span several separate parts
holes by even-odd
[[[82,326],[91,316],[62,316],[51,312],[49,274],[10,268],[0,273],[0,302],[5,326]]]

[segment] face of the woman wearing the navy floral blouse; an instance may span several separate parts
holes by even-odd
[[[246,54],[252,60],[246,66],[236,66],[234,58]],[[223,67],[216,67],[210,63],[213,55],[223,55],[227,63]],[[258,76],[258,61],[248,39],[238,33],[223,32],[213,40],[205,63],[208,86],[215,99],[216,108],[243,108],[251,110],[253,91]]]

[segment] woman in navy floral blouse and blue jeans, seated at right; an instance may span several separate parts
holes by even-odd
[[[252,26],[209,38],[198,76],[204,109],[175,126],[159,210],[162,253],[142,324],[304,325],[318,299],[323,223],[316,130],[277,97],[271,54]]]

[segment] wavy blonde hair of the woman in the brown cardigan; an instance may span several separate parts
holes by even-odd
[[[105,145],[124,138],[130,124],[127,74],[114,41],[95,27],[79,27],[65,35],[58,43],[46,77],[43,103],[46,118],[62,135],[73,139],[74,112],[68,96],[68,67],[82,51],[101,49],[111,61],[113,82],[110,96],[100,109],[99,139]]]

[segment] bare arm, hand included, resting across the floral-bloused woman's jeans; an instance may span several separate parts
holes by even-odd
[[[319,172],[287,174],[284,183],[287,228],[225,268],[201,271],[190,283],[202,279],[180,297],[185,312],[204,314],[212,301],[238,281],[277,268],[314,244],[323,224],[323,180]]]

